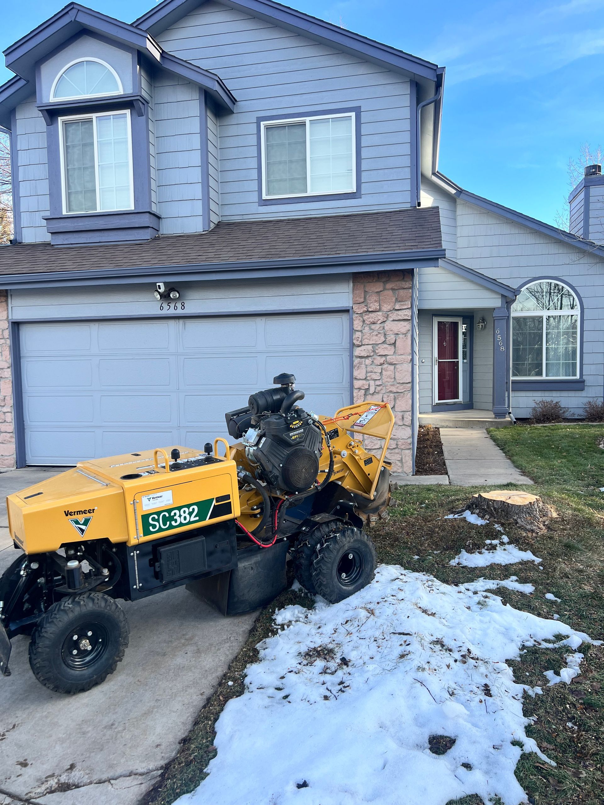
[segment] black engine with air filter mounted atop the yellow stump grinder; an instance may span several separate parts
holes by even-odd
[[[293,374],[273,379],[277,388],[251,394],[246,408],[225,415],[234,439],[242,439],[256,477],[276,492],[304,492],[316,481],[321,457],[321,429],[296,405],[304,391],[295,390]]]

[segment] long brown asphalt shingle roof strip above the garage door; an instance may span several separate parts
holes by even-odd
[[[164,235],[144,243],[102,246],[19,243],[0,246],[0,276],[424,249],[441,249],[441,221],[437,207],[221,222],[209,232]]]

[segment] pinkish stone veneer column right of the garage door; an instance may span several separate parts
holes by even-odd
[[[412,275],[353,275],[354,402],[389,403],[395,414],[387,457],[393,473],[412,473]]]

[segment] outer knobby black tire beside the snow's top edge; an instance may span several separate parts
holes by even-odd
[[[342,557],[354,552],[362,558],[362,570],[354,584],[342,584],[337,568]],[[312,581],[316,592],[337,604],[355,592],[366,587],[374,578],[375,548],[365,531],[354,526],[343,526],[333,530],[316,548],[312,560]]]

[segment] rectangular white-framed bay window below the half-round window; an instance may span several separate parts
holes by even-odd
[[[64,213],[133,209],[130,111],[60,119]]]

